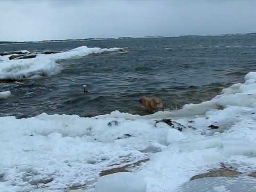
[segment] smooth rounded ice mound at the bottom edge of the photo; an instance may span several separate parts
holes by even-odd
[[[129,172],[119,172],[99,178],[95,192],[146,192],[143,178]]]

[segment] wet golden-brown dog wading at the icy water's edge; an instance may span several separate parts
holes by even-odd
[[[139,102],[143,107],[145,107],[147,111],[150,111],[150,112],[154,112],[158,110],[164,111],[162,100],[157,97],[147,98],[143,96],[140,98]]]

